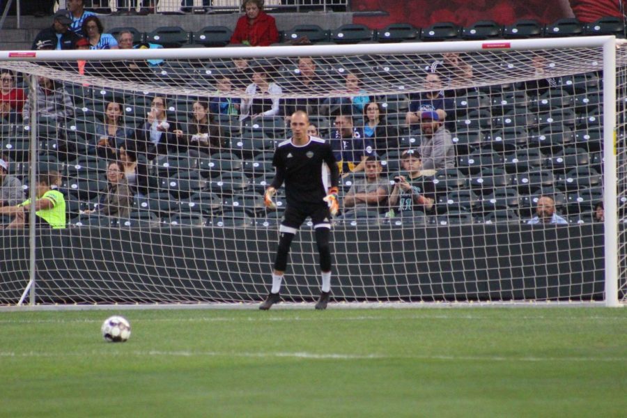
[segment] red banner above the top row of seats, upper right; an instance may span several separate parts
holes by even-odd
[[[561,17],[577,17],[581,22],[594,22],[599,17],[621,17],[623,0],[353,0],[353,12],[382,11],[387,16],[357,16],[355,23],[382,29],[392,23],[410,23],[417,27],[435,22],[453,22],[470,26],[479,20],[512,24],[520,19],[541,23],[555,22]]]

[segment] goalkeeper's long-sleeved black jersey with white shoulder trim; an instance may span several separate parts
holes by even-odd
[[[331,145],[324,139],[309,137],[302,146],[283,141],[274,151],[272,165],[277,169],[272,187],[285,182],[288,205],[322,203],[330,187],[337,187],[339,169]]]

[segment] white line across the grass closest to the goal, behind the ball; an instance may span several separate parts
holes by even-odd
[[[128,315],[132,318],[132,314]],[[336,321],[347,321],[347,320],[428,320],[428,319],[442,319],[442,320],[499,320],[499,318],[493,318],[489,316],[473,316],[473,315],[464,315],[464,316],[456,316],[456,315],[413,315],[413,316],[396,316],[396,317],[388,317],[388,316],[348,316],[348,317],[334,317],[327,318],[324,320],[336,320]],[[627,316],[585,316],[585,317],[573,317],[573,316],[516,316],[516,319],[522,320],[556,320],[556,319],[578,319],[578,320],[627,320]],[[189,322],[189,323],[212,323],[212,322],[291,322],[291,321],[318,321],[320,320],[317,316],[311,316],[309,318],[302,318],[300,316],[293,317],[278,317],[273,316],[270,318],[266,318],[261,314],[260,316],[248,316],[248,317],[217,317],[217,318],[134,318],[133,323],[144,323],[144,322],[155,322],[155,323],[169,323],[169,322]],[[502,318],[502,320],[509,320],[509,318]],[[100,319],[0,319],[1,324],[67,324],[67,323],[101,323]]]

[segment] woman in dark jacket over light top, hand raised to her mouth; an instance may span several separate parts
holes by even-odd
[[[146,122],[135,133],[137,149],[146,153],[148,160],[157,156],[167,155],[178,151],[178,138],[174,131],[178,125],[168,121],[166,113],[167,101],[163,96],[155,96],[150,104],[150,111],[146,115]]]

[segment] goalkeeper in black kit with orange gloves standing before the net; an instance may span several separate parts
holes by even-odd
[[[331,215],[338,210],[337,185],[339,169],[331,145],[324,139],[309,137],[309,117],[304,111],[292,114],[292,138],[281,142],[274,151],[272,165],[276,174],[265,192],[265,206],[274,208],[272,197],[285,182],[287,206],[279,227],[279,248],[274,259],[272,290],[259,309],[267,310],[279,302],[281,282],[294,235],[309,216],[314,223],[320,254],[322,292],[316,309],[326,309],[331,292],[331,251],[329,235]],[[329,180],[330,174],[330,180]]]

